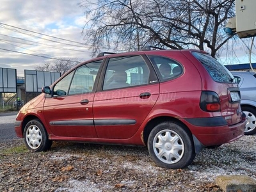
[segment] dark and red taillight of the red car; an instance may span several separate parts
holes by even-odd
[[[201,93],[200,108],[203,111],[220,111],[220,98],[215,92],[203,91]]]

